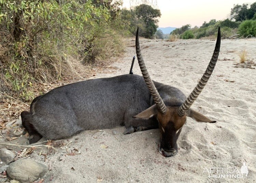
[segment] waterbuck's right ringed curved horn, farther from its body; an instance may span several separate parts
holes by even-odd
[[[178,110],[178,115],[179,116],[184,116],[186,111],[189,109],[189,107],[193,104],[193,102],[197,99],[201,91],[203,90],[204,86],[206,85],[207,81],[211,77],[211,74],[213,72],[213,69],[217,63],[217,59],[219,56],[219,49],[221,48],[221,29],[219,27],[218,29],[218,36],[217,36],[217,41],[215,45],[215,49],[212,55],[212,59],[204,72],[202,78],[198,82],[197,86],[195,89],[192,91],[192,93],[188,96],[186,101],[180,106]]]

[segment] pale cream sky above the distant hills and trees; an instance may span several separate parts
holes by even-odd
[[[233,4],[252,4],[256,0],[157,0],[161,11],[158,27],[177,27],[191,24],[200,27],[204,21],[229,18]],[[130,1],[124,0],[124,7],[130,7]]]

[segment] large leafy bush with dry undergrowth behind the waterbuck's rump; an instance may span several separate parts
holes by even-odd
[[[70,73],[68,57],[83,63],[117,54],[126,24],[120,1],[0,0],[1,91],[28,99],[33,81]]]

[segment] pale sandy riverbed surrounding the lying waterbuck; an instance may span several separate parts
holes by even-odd
[[[90,79],[129,73],[132,56],[136,54],[134,41],[128,40],[126,53],[112,64],[117,67],[114,73],[96,74]],[[186,96],[204,73],[214,46],[215,40],[141,39],[142,54],[152,79],[175,86]],[[65,146],[57,148],[57,153],[46,159],[39,156],[39,152],[31,154],[32,159],[51,168],[44,182],[256,181],[256,70],[233,65],[239,62],[238,55],[244,49],[248,59],[256,58],[255,39],[222,40],[212,77],[192,106],[217,122],[203,123],[187,118],[177,141],[179,152],[174,157],[166,158],[158,152],[158,129],[129,135],[123,135],[124,127],[89,130],[63,140],[72,141],[68,150]],[[137,59],[133,72],[141,75]],[[18,143],[24,142],[25,137],[18,139]],[[81,153],[74,150],[75,155],[67,155],[67,151],[74,148]],[[225,175],[223,172],[212,172],[208,178],[207,170],[211,168],[240,171],[244,162],[251,163],[247,179],[213,177]]]

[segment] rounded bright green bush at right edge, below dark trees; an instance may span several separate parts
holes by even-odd
[[[248,35],[253,35],[256,37],[256,20],[243,21],[238,28],[238,32],[244,37]]]

